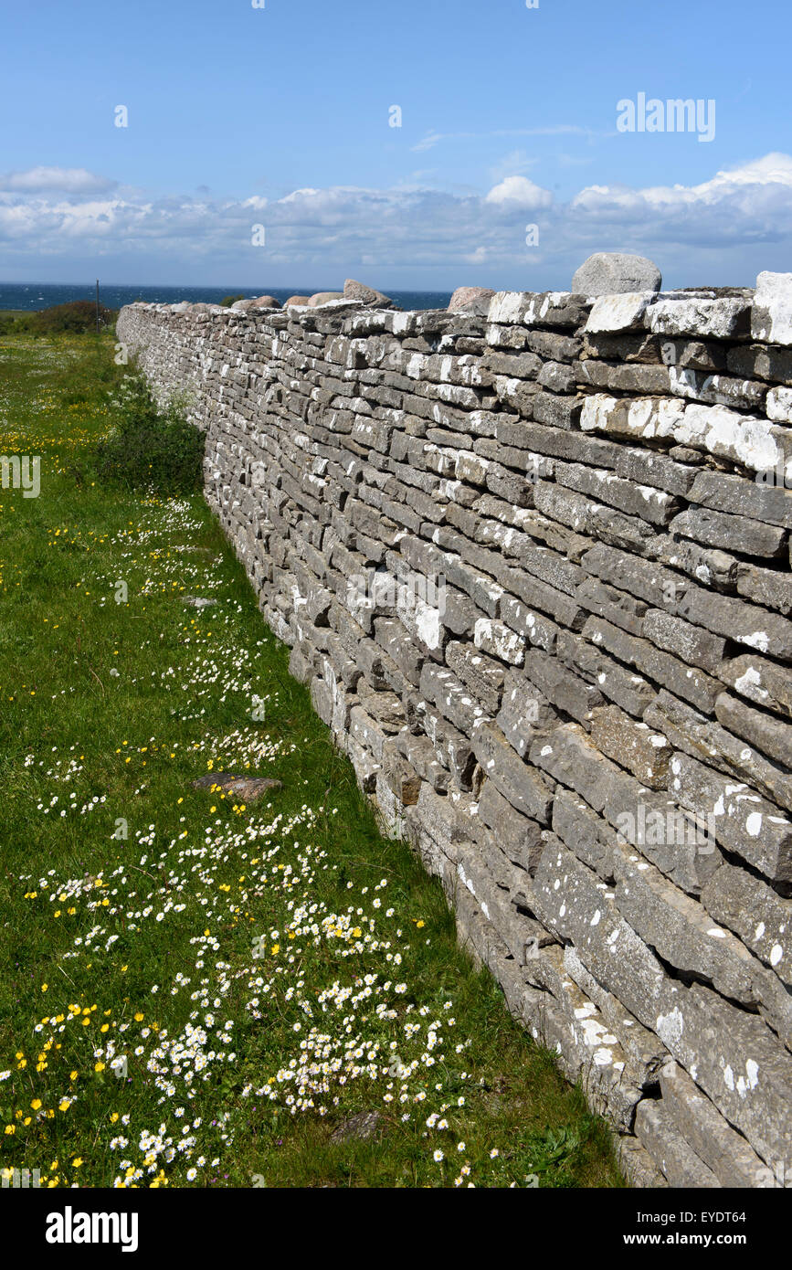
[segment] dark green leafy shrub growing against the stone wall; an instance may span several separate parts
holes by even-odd
[[[107,484],[187,494],[203,484],[203,433],[184,417],[184,404],[162,406],[143,375],[124,375],[112,401],[110,434],[95,452],[96,474]]]

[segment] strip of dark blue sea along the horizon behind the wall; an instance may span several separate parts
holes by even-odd
[[[255,296],[274,296],[283,304],[289,296],[314,295],[316,287],[128,287],[99,283],[99,302],[107,309],[121,309],[123,305],[135,304],[136,300],[145,300],[148,304],[180,304],[189,300],[190,304],[220,304],[226,296],[244,296],[253,300]],[[387,290],[387,288],[382,288]],[[400,309],[446,309],[451,300],[451,291],[387,291],[393,304]],[[60,282],[0,282],[0,310],[1,309],[51,309],[53,305],[70,304],[72,300],[95,300],[95,283],[81,286],[80,283]]]

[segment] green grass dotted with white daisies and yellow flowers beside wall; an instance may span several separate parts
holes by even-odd
[[[439,884],[380,837],[201,495],[96,480],[112,349],[0,340],[0,453],[42,456],[39,498],[0,491],[0,1166],[623,1185]],[[283,787],[250,806],[192,787],[222,770]],[[369,1110],[372,1139],[331,1142]]]

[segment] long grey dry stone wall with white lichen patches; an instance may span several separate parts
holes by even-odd
[[[789,1185],[792,274],[485,301],[118,335],[188,390],[292,673],[632,1182]]]

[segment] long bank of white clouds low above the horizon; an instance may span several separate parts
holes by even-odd
[[[272,284],[322,286],[363,265],[377,284],[409,277],[451,287],[472,268],[482,284],[538,288],[567,286],[591,251],[649,255],[679,286],[750,282],[762,268],[788,268],[792,251],[784,154],[696,185],[590,184],[570,202],[514,171],[486,193],[430,183],[416,173],[390,189],[301,188],[270,201],[207,190],[151,198],[84,169],[33,168],[0,178],[0,250],[23,277],[42,276],[44,258],[95,255],[123,259],[145,281],[272,269]],[[538,250],[527,246],[527,220],[538,225]],[[265,248],[251,244],[254,224],[267,229]]]

